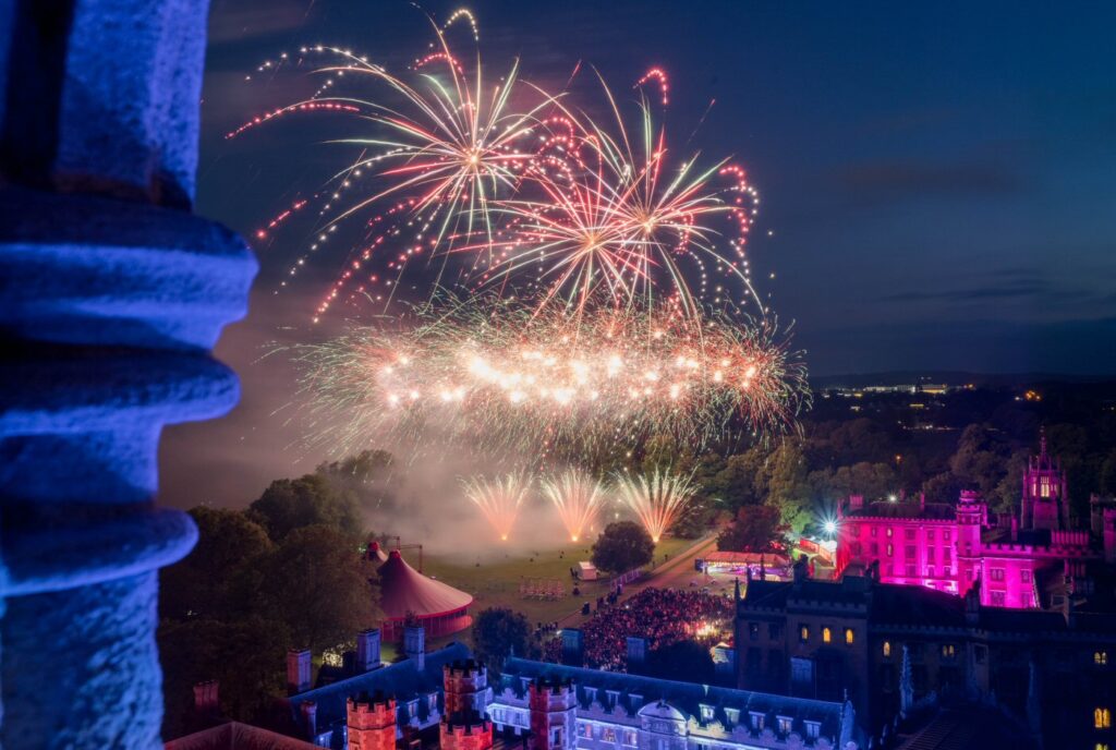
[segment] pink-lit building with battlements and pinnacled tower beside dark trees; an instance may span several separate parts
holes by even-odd
[[[1095,503],[1093,531],[1069,528],[1066,475],[1047,452],[1023,471],[1018,515],[991,518],[975,492],[959,502],[873,502],[853,496],[839,510],[836,575],[878,565],[879,580],[963,595],[980,580],[981,604],[1028,609],[1059,605],[1089,564],[1113,559],[1116,510]]]

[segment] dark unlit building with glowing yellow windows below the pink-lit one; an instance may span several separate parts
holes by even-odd
[[[738,602],[741,689],[847,695],[875,737],[918,709],[983,706],[1020,747],[1116,747],[1116,615],[987,607],[980,584],[958,597],[797,573]]]

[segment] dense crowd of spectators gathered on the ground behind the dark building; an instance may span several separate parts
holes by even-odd
[[[645,588],[623,604],[598,606],[581,625],[585,665],[624,671],[629,636],[647,638],[651,651],[679,641],[715,640],[732,614],[732,600],[723,596]],[[549,642],[547,661],[560,661],[560,640]]]

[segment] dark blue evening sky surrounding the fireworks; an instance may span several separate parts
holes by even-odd
[[[759,188],[757,283],[812,374],[1116,373],[1116,4],[469,7],[493,70],[519,56],[549,85],[580,60],[631,95],[661,66],[682,142],[715,100],[687,150],[733,156]],[[196,210],[248,235],[338,163],[298,125],[224,140],[312,90],[247,83],[262,60],[323,42],[398,66],[429,39],[404,0],[213,0]],[[299,239],[259,248],[252,312],[218,347],[243,403],[169,432],[164,501],[242,506],[318,460],[287,421],[292,374],[261,359],[269,342],[320,335],[308,318],[336,266],[271,294]]]

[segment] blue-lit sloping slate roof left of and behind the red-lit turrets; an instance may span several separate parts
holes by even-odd
[[[290,698],[291,711],[298,717],[299,705],[305,701],[318,704],[318,727],[328,728],[335,721],[346,718],[346,702],[350,695],[360,693],[394,695],[397,703],[404,703],[413,698],[440,692],[442,689],[442,667],[455,661],[464,661],[472,656],[469,648],[461,643],[430,652],[425,656],[425,667],[420,671],[413,660],[406,658],[395,664],[382,666],[372,672],[364,672],[346,680],[338,680],[321,688],[308,690]],[[423,709],[423,702],[420,701]]]

